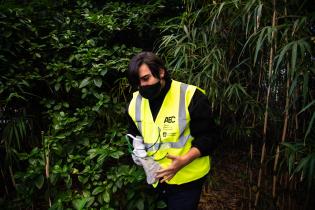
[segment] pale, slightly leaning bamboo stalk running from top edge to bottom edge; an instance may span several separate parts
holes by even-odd
[[[272,27],[275,27],[276,25],[276,1],[272,1],[273,4],[273,15],[272,15]],[[272,31],[271,34],[272,40],[274,40],[275,37],[275,31]],[[271,43],[270,47],[270,55],[269,55],[269,71],[268,71],[268,88],[267,88],[267,96],[266,96],[266,106],[265,106],[265,113],[264,113],[264,128],[263,128],[263,145],[261,149],[261,159],[260,159],[260,169],[259,169],[259,174],[258,174],[258,181],[257,181],[257,193],[256,193],[256,198],[255,198],[255,208],[257,207],[258,200],[259,200],[259,195],[260,195],[260,186],[261,186],[261,180],[262,180],[262,167],[265,162],[265,155],[266,155],[266,134],[267,134],[267,127],[268,127],[268,109],[269,109],[269,99],[270,99],[270,92],[271,92],[271,78],[272,78],[272,69],[273,69],[273,58],[274,58],[274,46],[273,43]]]

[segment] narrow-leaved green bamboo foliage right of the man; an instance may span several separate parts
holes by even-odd
[[[315,78],[313,4],[275,1],[273,7],[272,2],[184,1],[181,17],[162,25],[164,36],[158,51],[176,79],[206,90],[224,139],[236,146],[251,142],[258,148],[267,144],[263,154],[267,154],[266,162],[278,156],[275,148],[279,142],[291,142],[285,144],[291,145],[287,149],[297,146],[296,150],[281,152],[283,163],[288,165],[275,165],[276,169],[269,170],[302,176],[303,186],[311,189],[315,125],[311,84]],[[264,163],[260,167],[265,167]],[[265,176],[268,180],[274,175]],[[252,180],[249,182],[251,185]],[[260,192],[263,190],[269,189]]]

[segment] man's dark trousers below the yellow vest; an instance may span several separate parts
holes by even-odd
[[[197,210],[205,177],[181,185],[160,183],[160,198],[167,204],[163,210]]]

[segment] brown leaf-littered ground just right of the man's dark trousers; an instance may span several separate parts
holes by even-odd
[[[212,158],[209,179],[204,186],[199,210],[241,210],[246,191],[246,151],[221,149]]]

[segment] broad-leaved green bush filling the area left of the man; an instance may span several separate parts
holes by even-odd
[[[137,1],[1,3],[0,108],[25,112],[7,117],[1,137],[1,176],[12,177],[3,179],[9,184],[1,179],[3,208],[163,205],[148,193],[124,139],[131,95],[125,71],[145,46],[143,33],[158,36],[163,8]]]

